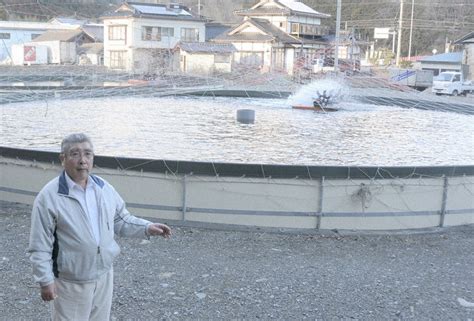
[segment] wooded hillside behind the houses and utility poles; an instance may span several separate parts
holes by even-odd
[[[353,30],[360,40],[373,40],[374,28],[398,30],[400,2],[402,0],[342,0],[341,28]],[[412,55],[430,54],[433,49],[444,52],[446,43],[452,43],[468,32],[474,31],[474,1],[472,0],[403,0],[402,55],[408,54],[410,29]],[[61,16],[98,19],[113,10],[120,0],[2,0],[1,20],[47,21]],[[147,3],[182,3],[211,21],[235,24],[241,17],[234,11],[249,8],[256,0],[135,0]],[[302,0],[316,11],[331,18],[323,24],[334,32],[336,26],[336,0]],[[412,10],[413,9],[413,10]],[[411,16],[413,12],[413,27]],[[391,47],[391,40],[379,40],[378,46]]]

